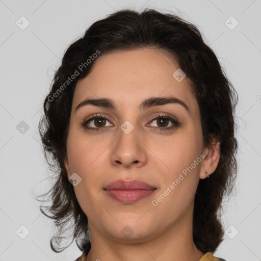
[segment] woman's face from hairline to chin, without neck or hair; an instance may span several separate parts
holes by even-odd
[[[117,51],[97,58],[77,83],[65,166],[68,178],[76,173],[81,180],[74,191],[90,233],[124,241],[129,232],[142,241],[191,217],[198,181],[210,170],[202,168],[198,103],[188,78],[173,76],[178,68],[159,49]],[[163,97],[176,102],[144,102]],[[86,103],[76,109],[86,99],[103,98],[115,107]],[[151,188],[105,190],[115,180]]]

